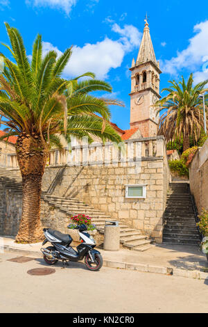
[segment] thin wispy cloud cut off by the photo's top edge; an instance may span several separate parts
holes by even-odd
[[[26,0],[27,4],[35,7],[50,7],[53,9],[64,10],[69,15],[72,6],[76,4],[77,0]]]

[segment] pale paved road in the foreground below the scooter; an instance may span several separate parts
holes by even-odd
[[[30,276],[41,258],[19,264],[0,254],[0,312],[208,312],[208,282],[71,263],[50,276]]]

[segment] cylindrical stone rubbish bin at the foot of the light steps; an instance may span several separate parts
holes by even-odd
[[[104,250],[119,251],[120,227],[119,221],[105,221]]]

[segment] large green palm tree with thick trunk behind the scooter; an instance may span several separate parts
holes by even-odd
[[[1,54],[4,67],[0,74],[0,115],[1,124],[6,125],[6,137],[17,136],[23,206],[16,241],[34,243],[43,236],[40,196],[50,147],[61,148],[62,138],[69,143],[71,136],[87,136],[89,142],[94,136],[102,141],[121,142],[110,125],[108,108],[108,104],[119,102],[89,95],[99,90],[112,91],[108,83],[96,80],[92,73],[81,76],[87,80],[62,78],[71,48],[60,58],[55,51],[43,57],[42,38],[37,35],[30,63],[19,31],[8,24],[6,30],[11,43],[11,47],[6,47],[14,60]]]

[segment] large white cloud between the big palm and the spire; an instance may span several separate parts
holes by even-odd
[[[95,44],[87,43],[83,47],[73,47],[71,59],[65,68],[64,74],[67,77],[76,77],[84,72],[94,72],[98,79],[106,79],[112,68],[121,66],[125,54],[139,47],[141,33],[132,25],[125,25],[123,29],[117,24],[112,30],[121,35],[118,40],[105,38]],[[54,49],[58,55],[62,52],[51,45],[43,42],[44,52]]]

